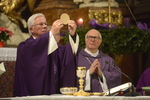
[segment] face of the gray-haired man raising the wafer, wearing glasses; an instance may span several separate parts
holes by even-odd
[[[42,16],[39,16],[34,19],[33,25],[30,28],[32,36],[38,38],[40,35],[48,32],[46,19]]]

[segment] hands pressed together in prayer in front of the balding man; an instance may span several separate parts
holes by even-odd
[[[96,73],[98,76],[101,77],[102,71],[100,68],[101,68],[100,62],[98,61],[98,59],[95,59],[89,68],[90,75],[92,75],[93,73]]]

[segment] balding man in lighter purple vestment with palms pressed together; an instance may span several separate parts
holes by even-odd
[[[121,85],[121,73],[114,60],[98,49],[102,36],[95,29],[89,30],[85,35],[86,48],[78,55],[77,67],[86,67],[84,90],[89,92],[108,91]],[[118,70],[116,70],[118,69]]]

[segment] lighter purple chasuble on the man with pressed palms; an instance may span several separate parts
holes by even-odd
[[[121,73],[112,68],[112,66],[118,68],[118,70],[120,70],[120,68],[116,66],[114,60],[111,57],[102,53],[101,50],[96,57],[89,55],[84,51],[84,49],[81,50],[78,55],[77,67],[86,67],[86,70],[88,70],[95,59],[98,59],[100,62],[101,70],[106,78],[108,89],[121,85]],[[109,64],[106,63],[106,61],[109,62]],[[103,90],[98,80],[98,75],[94,73],[91,75],[91,92],[102,91]]]

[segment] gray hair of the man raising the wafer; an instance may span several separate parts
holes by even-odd
[[[27,25],[28,25],[28,31],[29,31],[29,34],[32,34],[30,32],[30,28],[33,26],[33,23],[35,21],[35,18],[37,17],[44,17],[45,16],[42,14],[42,13],[37,13],[37,14],[33,14],[31,17],[29,17],[28,21],[27,21]],[[45,18],[46,19],[46,18]]]

